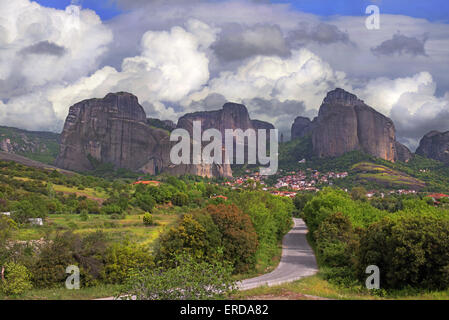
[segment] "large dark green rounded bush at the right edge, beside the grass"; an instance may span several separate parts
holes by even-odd
[[[449,221],[432,216],[388,217],[360,240],[358,274],[380,268],[381,286],[431,290],[449,287]]]

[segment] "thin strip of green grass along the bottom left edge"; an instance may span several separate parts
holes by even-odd
[[[5,297],[0,294],[0,300],[92,300],[115,296],[118,292],[117,285],[99,285],[80,290],[68,290],[66,288],[32,289],[21,296]]]

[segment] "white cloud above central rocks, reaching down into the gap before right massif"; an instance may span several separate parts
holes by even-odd
[[[294,50],[289,58],[257,56],[235,72],[222,72],[202,90],[181,101],[185,110],[198,108],[215,94],[243,103],[255,119],[269,121],[287,133],[292,119],[314,116],[326,93],[348,87],[343,72],[334,71],[307,49]],[[218,109],[220,106],[216,106]]]

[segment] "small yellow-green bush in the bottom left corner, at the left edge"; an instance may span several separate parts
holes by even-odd
[[[7,296],[21,295],[33,287],[31,273],[20,264],[9,262],[5,265],[5,280],[2,282],[1,290]]]

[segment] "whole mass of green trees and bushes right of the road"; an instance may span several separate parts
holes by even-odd
[[[364,285],[375,265],[381,289],[449,288],[449,210],[419,197],[368,201],[330,188],[300,209],[327,279]]]

